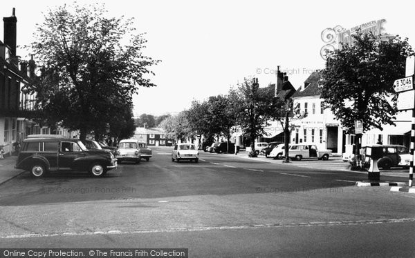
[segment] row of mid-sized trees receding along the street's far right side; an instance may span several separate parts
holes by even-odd
[[[250,140],[251,155],[255,155],[255,139],[265,135],[270,121],[278,120],[284,127],[284,115],[289,112],[293,117],[293,109],[286,99],[275,97],[275,85],[259,88],[258,79],[253,78],[232,87],[228,95],[192,101],[188,110],[168,117],[160,126],[170,139],[195,139],[204,135],[206,144],[216,137],[225,137],[230,142],[232,133],[241,131]]]

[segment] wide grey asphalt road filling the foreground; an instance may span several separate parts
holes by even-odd
[[[356,187],[365,174],[242,153],[201,152],[199,163],[176,163],[169,151],[154,148],[149,162],[122,163],[102,178],[65,171],[33,179],[25,172],[4,183],[0,248],[189,248],[190,257],[415,256],[414,195]]]

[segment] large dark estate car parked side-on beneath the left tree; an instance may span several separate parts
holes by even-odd
[[[24,139],[15,168],[43,177],[52,170],[86,170],[95,177],[117,168],[117,159],[102,150],[88,150],[79,139],[31,135]]]

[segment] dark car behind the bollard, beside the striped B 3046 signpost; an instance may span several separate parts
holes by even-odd
[[[391,167],[409,166],[409,163],[411,161],[411,155],[409,154],[409,151],[405,146],[396,144],[375,144],[371,147],[374,146],[382,148],[382,157],[378,159],[378,168],[389,169]],[[369,168],[370,158],[366,156],[366,148],[367,146],[362,147],[362,160],[365,162],[365,168]]]

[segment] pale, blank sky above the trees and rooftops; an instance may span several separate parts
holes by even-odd
[[[48,8],[73,1],[3,1],[1,17],[16,8],[17,45],[28,45]],[[277,66],[295,88],[324,69],[322,31],[349,29],[385,19],[385,32],[409,38],[415,47],[414,15],[408,1],[77,1],[104,3],[113,17],[133,17],[148,40],[143,52],[160,59],[151,81],[133,97],[134,115],[175,114],[193,100],[226,95],[244,78],[261,87],[275,83]],[[338,4],[335,4],[338,3]],[[405,7],[406,6],[406,7]],[[0,26],[3,40],[3,26]],[[24,50],[17,49],[24,58]],[[27,54],[27,53],[26,53]]]

